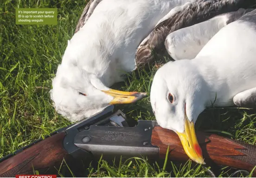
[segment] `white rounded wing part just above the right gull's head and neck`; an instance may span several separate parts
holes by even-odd
[[[199,24],[174,31],[166,37],[166,50],[173,60],[193,59],[220,29],[252,10],[239,9],[224,13]]]

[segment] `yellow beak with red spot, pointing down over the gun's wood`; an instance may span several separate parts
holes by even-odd
[[[205,164],[201,147],[197,141],[194,123],[190,122],[186,117],[185,132],[177,132],[177,134],[188,157],[199,164]]]

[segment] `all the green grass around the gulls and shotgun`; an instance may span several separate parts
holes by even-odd
[[[0,158],[70,124],[55,112],[49,90],[84,5],[83,0],[0,1]],[[57,7],[58,25],[15,25],[16,7]],[[149,93],[157,70],[155,66],[150,68],[150,71],[130,74],[122,83],[122,90]],[[117,108],[130,119],[155,119],[149,97]],[[205,123],[204,119],[209,121]],[[211,129],[219,135],[253,144],[256,141],[256,114],[247,109],[208,109],[200,115],[196,129]],[[89,168],[89,176],[168,177],[170,172],[175,177],[207,175],[207,169],[194,167],[191,161],[181,166],[167,161],[166,167],[169,171],[138,158],[116,166],[101,160],[98,169]],[[220,176],[229,175],[223,171]]]

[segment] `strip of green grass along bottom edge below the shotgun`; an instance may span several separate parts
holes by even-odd
[[[166,160],[167,163],[167,160]],[[165,170],[165,167],[160,167],[157,162],[154,164],[149,163],[146,159],[138,157],[130,158],[124,163],[118,162],[116,166],[109,166],[108,162],[102,160],[99,163],[98,169],[89,167],[89,177],[209,177],[205,173],[208,168],[201,165],[192,166],[192,161],[188,161],[185,166],[180,167],[170,164],[172,171]]]

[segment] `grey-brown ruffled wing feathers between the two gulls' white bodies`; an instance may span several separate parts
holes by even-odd
[[[154,62],[155,55],[161,57],[168,55],[165,49],[165,39],[173,31],[198,24],[226,12],[237,11],[244,7],[243,1],[247,2],[247,0],[196,0],[189,5],[183,5],[184,8],[157,25],[147,37],[148,39],[140,44],[135,55],[137,67],[151,64]]]

